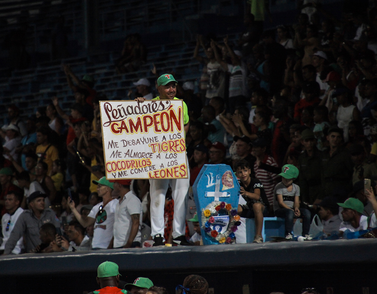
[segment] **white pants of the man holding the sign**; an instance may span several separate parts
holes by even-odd
[[[164,236],[164,208],[166,191],[172,187],[174,200],[173,238],[186,233],[186,212],[189,201],[190,171],[187,179],[149,179],[151,236]]]

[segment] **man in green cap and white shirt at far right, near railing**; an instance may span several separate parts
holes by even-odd
[[[343,236],[345,230],[356,232],[368,228],[368,217],[363,216],[364,204],[359,199],[348,198],[344,203],[338,203],[338,205],[343,207],[343,222],[339,227],[340,236]]]

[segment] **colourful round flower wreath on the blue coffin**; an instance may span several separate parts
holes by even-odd
[[[229,224],[227,230],[219,234],[216,230],[211,230],[210,226],[215,222],[214,216],[219,214],[219,211],[226,211],[229,215]],[[234,232],[237,231],[237,227],[241,225],[240,217],[237,214],[237,210],[232,208],[231,204],[224,201],[213,201],[208,204],[202,210],[202,228],[208,236],[213,237],[219,243],[232,243],[234,242]]]

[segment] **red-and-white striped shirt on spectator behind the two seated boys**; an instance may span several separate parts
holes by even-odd
[[[275,159],[267,154],[265,155],[262,162],[265,164],[277,167],[277,163]],[[274,188],[277,184],[277,178],[279,178],[279,176],[276,175],[275,173],[270,173],[267,170],[263,170],[262,168],[259,168],[256,162],[254,163],[254,172],[255,172],[255,178],[257,178],[263,184],[268,202],[270,202],[270,204],[273,204]]]

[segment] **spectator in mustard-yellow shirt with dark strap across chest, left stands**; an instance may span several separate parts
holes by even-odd
[[[46,127],[41,127],[37,130],[37,154],[40,161],[46,162],[48,165],[48,173],[52,170],[52,162],[59,159],[58,149],[49,141],[50,130]]]

